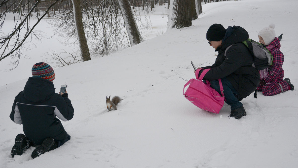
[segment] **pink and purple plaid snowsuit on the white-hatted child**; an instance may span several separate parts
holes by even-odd
[[[273,64],[268,68],[268,74],[263,77],[261,73],[261,82],[257,91],[262,91],[265,96],[273,96],[289,90],[288,83],[283,80],[285,72],[283,71],[283,53],[280,51],[280,40],[275,39],[266,46],[273,56]],[[262,78],[263,77],[263,78]]]

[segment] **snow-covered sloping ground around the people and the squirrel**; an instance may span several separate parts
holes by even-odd
[[[197,66],[215,61],[216,53],[206,40],[213,23],[244,27],[254,40],[260,29],[274,23],[276,35],[284,34],[285,77],[298,87],[297,8],[297,0],[209,3],[191,27],[168,30],[111,55],[55,69],[54,85],[68,85],[75,108],[74,118],[63,122],[72,139],[35,159],[31,159],[33,147],[12,158],[15,136],[23,131],[9,118],[11,106],[32,65],[42,61],[32,52],[33,62],[23,59],[21,70],[1,78],[1,83],[9,83],[0,86],[0,167],[297,167],[297,88],[243,99],[247,116],[240,120],[228,117],[226,104],[219,114],[209,113],[182,93],[185,80],[194,78],[191,60]],[[108,112],[106,95],[123,98],[117,111]]]

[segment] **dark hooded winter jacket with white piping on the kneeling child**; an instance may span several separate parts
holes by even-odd
[[[67,93],[55,93],[54,84],[39,77],[29,77],[24,91],[21,91],[13,103],[10,119],[23,124],[24,134],[33,143],[41,144],[46,137],[63,141],[69,135],[59,119],[72,119],[74,109]],[[57,119],[58,117],[59,119]]]

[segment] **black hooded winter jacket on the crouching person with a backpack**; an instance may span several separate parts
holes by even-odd
[[[248,47],[241,43],[248,38],[248,32],[242,27],[228,27],[222,45],[215,50],[218,52],[215,63],[212,66],[202,67],[211,68],[203,80],[226,77],[240,94],[239,100],[249,96],[260,83],[260,74],[252,67],[253,56]],[[227,50],[225,57],[226,48],[232,44],[234,45]]]

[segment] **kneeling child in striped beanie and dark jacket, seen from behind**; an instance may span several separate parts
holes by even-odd
[[[49,64],[36,63],[24,91],[15,97],[10,119],[16,124],[23,124],[25,135],[15,137],[12,157],[22,155],[30,146],[35,146],[31,154],[34,159],[70,139],[59,119],[72,119],[74,108],[67,92],[55,93],[54,79],[55,73]]]

